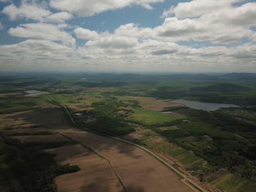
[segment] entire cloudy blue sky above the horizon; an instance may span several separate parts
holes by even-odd
[[[0,71],[256,72],[256,0],[0,0]]]

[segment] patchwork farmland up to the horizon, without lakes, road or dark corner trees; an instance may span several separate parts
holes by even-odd
[[[203,188],[251,192],[256,186],[256,75],[250,75],[249,80],[242,78],[243,75],[246,76],[60,74],[56,77],[48,74],[48,77],[33,78],[1,77],[0,131],[6,138],[5,145],[9,146],[8,141],[12,139],[21,154],[31,145],[36,154],[50,154],[52,161],[45,166],[77,165],[71,174],[64,174],[67,170],[61,171],[62,175],[53,174],[56,184],[53,177],[49,183],[59,191],[75,191],[76,188],[122,191],[124,185],[128,191],[155,191],[160,188],[155,175],[162,175],[165,186],[162,190],[190,191],[176,174],[137,147],[102,137],[113,136],[154,151],[192,180],[203,181],[200,184]],[[31,89],[47,93],[27,97],[25,91]],[[173,103],[174,99],[222,102],[239,107],[195,110]],[[67,107],[75,123],[61,106]],[[37,156],[33,161],[38,162]],[[114,167],[111,168],[109,161]],[[12,185],[20,185],[22,181],[15,179],[12,172],[14,170],[10,169]],[[132,177],[137,172],[140,172],[138,177]],[[93,173],[102,173],[102,176]],[[108,175],[108,180],[104,180],[104,175]],[[86,177],[91,179],[86,180]],[[30,179],[27,178],[27,183]],[[71,185],[76,181],[77,184]],[[0,180],[0,183],[6,181]],[[31,188],[24,185],[25,191]]]

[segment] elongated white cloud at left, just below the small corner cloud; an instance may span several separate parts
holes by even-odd
[[[52,25],[48,23],[27,23],[20,24],[16,28],[10,28],[8,33],[15,37],[33,39],[47,39],[64,42],[69,47],[75,47],[75,39],[62,28],[67,25]]]

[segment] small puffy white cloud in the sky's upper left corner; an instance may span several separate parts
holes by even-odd
[[[20,7],[10,4],[9,6],[4,7],[2,13],[7,14],[11,20],[26,18],[41,21],[51,14],[48,9],[40,7],[38,4],[26,3],[22,3]]]

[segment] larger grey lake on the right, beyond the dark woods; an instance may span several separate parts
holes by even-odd
[[[200,101],[187,101],[184,99],[177,99],[177,100],[173,100],[172,102],[177,103],[177,104],[184,104],[187,107],[191,107],[196,110],[215,111],[215,110],[219,110],[219,108],[239,107],[236,104],[205,103],[205,102],[200,102]]]

